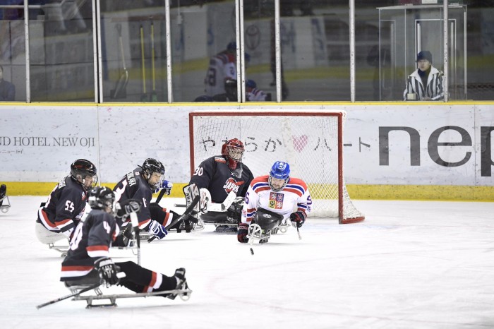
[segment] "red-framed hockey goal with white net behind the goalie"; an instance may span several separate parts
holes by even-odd
[[[239,138],[243,163],[254,177],[269,174],[275,161],[290,164],[291,177],[303,179],[313,199],[312,217],[335,217],[340,224],[364,215],[344,184],[343,126],[346,112],[191,112],[191,174],[207,157],[221,155],[223,143]]]

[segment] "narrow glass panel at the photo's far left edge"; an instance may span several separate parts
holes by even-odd
[[[1,1],[0,5],[0,102],[26,100],[23,5],[23,1],[15,0]]]

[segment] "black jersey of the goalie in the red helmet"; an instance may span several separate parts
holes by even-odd
[[[199,189],[207,189],[211,193],[212,202],[222,203],[230,191],[234,191],[237,196],[246,196],[253,178],[251,169],[245,164],[239,162],[232,171],[224,157],[217,155],[199,164],[190,184],[195,183]]]

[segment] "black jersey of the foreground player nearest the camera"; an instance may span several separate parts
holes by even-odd
[[[61,265],[61,281],[74,280],[90,273],[95,261],[109,257],[109,246],[119,234],[115,218],[93,209],[74,232],[71,246]]]

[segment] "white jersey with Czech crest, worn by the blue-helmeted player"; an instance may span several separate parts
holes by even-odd
[[[251,181],[242,210],[242,222],[251,224],[255,218],[255,210],[259,207],[283,215],[284,220],[291,213],[311,212],[312,199],[307,184],[298,178],[290,178],[282,191],[272,191],[268,183],[269,175],[256,177]]]

